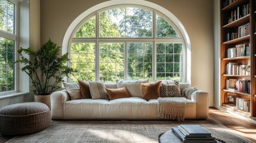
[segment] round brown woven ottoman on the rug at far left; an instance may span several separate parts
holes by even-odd
[[[0,133],[4,135],[38,132],[50,122],[51,111],[41,102],[23,102],[0,109]]]

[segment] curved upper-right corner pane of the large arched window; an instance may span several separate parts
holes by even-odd
[[[178,38],[179,36],[164,18],[156,15],[156,33],[158,38]]]

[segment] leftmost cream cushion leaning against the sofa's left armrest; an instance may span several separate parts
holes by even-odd
[[[82,95],[78,83],[66,83],[63,82],[64,87],[66,88],[67,93],[71,100],[81,99]]]

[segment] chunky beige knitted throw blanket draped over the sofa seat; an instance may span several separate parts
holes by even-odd
[[[163,119],[184,121],[186,111],[186,98],[165,97],[158,98],[158,116]]]

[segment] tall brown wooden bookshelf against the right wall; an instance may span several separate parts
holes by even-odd
[[[220,45],[220,105],[221,108],[224,110],[233,111],[234,113],[240,114],[245,117],[256,117],[256,50],[255,50],[255,38],[256,38],[256,23],[255,23],[255,6],[256,2],[255,0],[235,0],[231,4],[224,6],[224,2],[227,0],[221,0],[220,2],[220,24],[221,24],[221,45]],[[239,8],[238,8],[239,7]],[[245,9],[244,9],[245,8]],[[239,12],[238,12],[239,10]],[[247,13],[243,13],[245,10]],[[242,11],[242,12],[241,12]],[[239,15],[238,15],[239,13]],[[233,15],[232,15],[233,14]],[[245,26],[245,24],[249,23],[249,30]],[[242,28],[241,28],[242,27]],[[245,35],[242,35],[243,33],[246,33]],[[230,33],[232,34],[230,36]],[[251,33],[251,34],[250,34]],[[236,37],[233,35],[237,35]],[[235,38],[235,39],[234,39]],[[227,41],[228,39],[232,39]],[[228,58],[227,57],[227,49],[229,48],[236,48],[236,45],[249,45],[247,48],[247,53],[249,50],[249,56],[242,56],[242,57],[235,57],[235,58]],[[245,48],[244,51],[246,51],[246,46],[243,46]],[[238,48],[237,48],[238,50]],[[233,52],[233,51],[232,51]],[[240,52],[240,51],[239,51]],[[230,53],[230,51],[229,51]],[[243,54],[246,55],[246,54]],[[236,55],[238,56],[238,55]],[[232,56],[234,57],[234,56]],[[238,73],[238,70],[236,70],[236,73],[239,75],[235,75],[235,72],[232,74],[226,74],[226,69],[235,70],[239,66],[227,66],[230,65],[230,63],[239,63],[238,65],[245,65],[246,72],[249,75],[240,75],[241,73]],[[233,68],[233,69],[232,69]],[[239,67],[241,68],[241,67]],[[244,68],[244,66],[242,67]],[[249,69],[249,70],[248,70]],[[242,69],[243,72],[245,72],[245,69]],[[239,72],[240,71],[239,69]],[[244,73],[242,73],[244,74]],[[242,80],[239,80],[239,84],[235,82],[236,86],[239,86],[240,88],[245,88],[246,86],[246,92],[238,92],[233,90],[227,90],[229,87],[226,87],[226,81],[231,81],[227,79],[243,79],[246,82],[240,82]],[[236,80],[235,80],[236,81]],[[227,84],[227,86],[231,85],[231,83]],[[232,85],[233,82],[232,82]],[[250,88],[248,88],[250,87]],[[250,94],[248,94],[250,93]],[[245,100],[249,100],[249,112],[239,110],[236,106],[232,106],[227,104],[227,94],[234,94],[237,98],[244,98]],[[245,102],[245,101],[244,101]],[[248,102],[248,101],[247,101]]]

